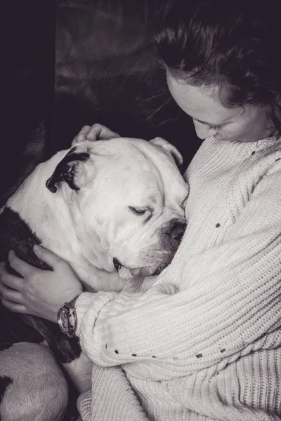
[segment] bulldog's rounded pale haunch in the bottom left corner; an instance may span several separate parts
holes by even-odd
[[[67,406],[67,382],[51,351],[19,342],[1,351],[1,421],[59,421]]]

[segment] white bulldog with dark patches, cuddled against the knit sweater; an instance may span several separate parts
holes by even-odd
[[[186,227],[188,185],[176,165],[181,162],[178,150],[162,138],[84,140],[58,152],[40,163],[8,199],[0,215],[0,261],[13,249],[27,262],[51,269],[32,251],[40,243],[69,262],[85,290],[94,292],[118,291],[132,276],[161,272],[174,257]],[[91,386],[91,363],[77,338],[68,338],[55,323],[34,316],[4,307],[1,314],[5,345],[0,374],[10,394],[17,396],[14,380],[24,372],[18,361],[27,364],[22,349],[17,354],[22,344],[27,350],[44,347],[44,353],[47,346],[44,361],[50,372],[51,349],[79,392]],[[35,384],[30,375],[25,382],[30,389]],[[37,390],[41,387],[46,393],[44,378],[41,386],[38,382],[37,378]],[[5,396],[2,417],[7,402],[13,401],[11,396],[5,401]]]

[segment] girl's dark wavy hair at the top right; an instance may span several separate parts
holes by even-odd
[[[224,107],[265,107],[281,134],[281,31],[276,0],[173,0],[155,34],[171,76],[218,86]]]

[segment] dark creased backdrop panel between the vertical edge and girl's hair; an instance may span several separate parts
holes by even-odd
[[[165,0],[61,1],[56,20],[56,140],[103,123],[120,135],[162,136],[185,157],[200,145],[166,87],[155,56],[155,16]]]

